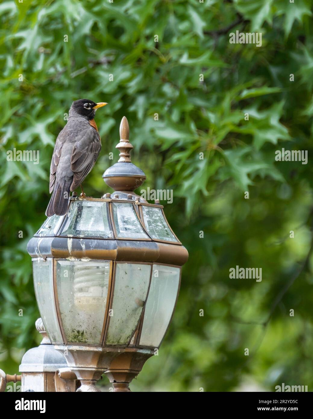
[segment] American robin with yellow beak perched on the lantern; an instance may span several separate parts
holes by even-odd
[[[96,163],[101,150],[101,140],[94,120],[96,110],[107,103],[89,99],[74,101],[70,107],[65,127],[57,136],[50,166],[52,193],[46,210],[47,217],[67,212],[70,191],[80,186]]]

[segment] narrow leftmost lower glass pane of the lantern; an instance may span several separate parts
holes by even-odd
[[[33,261],[33,276],[39,313],[52,343],[63,343],[54,305],[52,261]]]

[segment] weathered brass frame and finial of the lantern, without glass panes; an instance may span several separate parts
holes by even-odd
[[[67,222],[67,215],[65,215],[62,221],[59,222],[55,234],[43,235],[39,233],[39,230],[27,246],[32,260],[52,261],[54,307],[63,339],[63,342],[55,343],[54,348],[65,356],[69,370],[72,373],[74,372],[75,377],[81,381],[81,387],[78,391],[98,391],[95,383],[103,372],[109,377],[114,391],[130,391],[129,382],[141,371],[145,361],[155,354],[156,349],[160,347],[166,334],[165,332],[158,347],[140,345],[142,324],[145,315],[145,302],[143,302],[142,313],[127,344],[106,344],[106,336],[110,325],[109,310],[113,304],[117,264],[130,263],[150,266],[150,279],[145,301],[147,301],[150,292],[154,264],[179,268],[178,290],[170,321],[167,325],[168,329],[180,289],[181,266],[188,259],[186,248],[182,246],[166,220],[163,205],[149,204],[142,197],[134,193],[134,189],[140,186],[145,180],[145,174],[131,163],[129,151],[133,147],[128,140],[129,127],[125,117],[123,117],[121,122],[120,137],[121,140],[116,146],[121,149],[120,160],[103,174],[106,183],[116,190],[114,197],[111,197],[110,194],[106,194],[101,199],[73,196],[69,200],[69,208],[71,203],[75,201],[106,203],[106,215],[112,237],[62,235],[62,231]],[[117,190],[118,188],[121,188],[121,190]],[[114,222],[113,203],[127,203],[132,205],[146,237],[140,239],[118,237]],[[164,220],[177,241],[151,238],[145,226],[142,211],[143,206],[158,207],[161,209]],[[68,342],[62,324],[57,290],[57,261],[75,261],[81,259],[88,261],[109,261],[110,263],[106,308],[101,339],[98,344]],[[49,334],[49,330],[47,330],[47,333]]]

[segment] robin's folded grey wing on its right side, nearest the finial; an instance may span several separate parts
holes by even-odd
[[[101,150],[100,136],[95,129],[88,130],[88,133],[82,132],[80,136],[83,138],[75,142],[71,155],[71,170],[74,175],[71,191],[75,191],[83,183]]]

